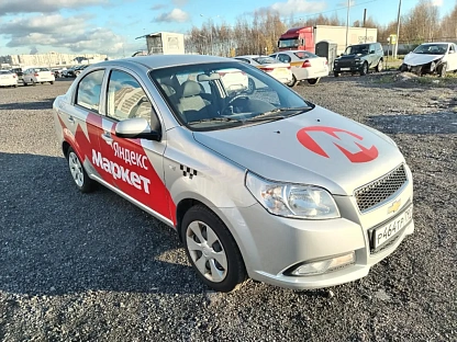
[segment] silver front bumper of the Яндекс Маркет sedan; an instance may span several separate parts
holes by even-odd
[[[397,197],[404,204],[401,213],[412,202],[412,185]],[[357,214],[353,197],[339,197],[338,206],[345,217],[327,220],[301,220],[268,214],[259,204],[248,208],[221,209],[228,218],[228,227],[235,229],[246,269],[253,280],[294,289],[334,286],[366,276],[372,265],[391,254],[413,233],[414,221],[395,236],[393,241],[374,252],[370,244],[371,230],[397,217],[386,218],[384,205],[374,213]],[[353,207],[352,213],[347,208]],[[358,217],[357,217],[358,216]],[[382,218],[381,218],[382,217]],[[236,226],[232,226],[233,223]],[[235,228],[236,227],[236,228]],[[354,264],[319,275],[290,275],[299,264],[355,252]]]

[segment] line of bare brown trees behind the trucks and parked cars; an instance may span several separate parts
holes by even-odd
[[[346,21],[334,12],[308,19],[281,18],[272,10],[260,10],[242,15],[235,24],[209,19],[202,26],[193,26],[186,36],[186,50],[219,56],[271,54],[277,50],[279,36],[288,29],[314,25],[345,26]],[[390,34],[397,34],[397,18],[388,24],[379,24],[371,16],[364,22],[354,21],[356,27],[378,29],[378,42],[386,43]],[[399,43],[457,41],[457,0],[449,13],[441,15],[432,0],[420,0],[408,13],[401,15]]]

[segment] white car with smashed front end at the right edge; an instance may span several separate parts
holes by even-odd
[[[454,43],[424,43],[404,56],[401,71],[417,75],[437,73],[445,77],[457,70],[457,45]]]

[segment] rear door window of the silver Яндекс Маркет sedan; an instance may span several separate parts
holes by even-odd
[[[104,70],[96,70],[86,75],[78,84],[76,104],[99,112],[101,83],[103,81]]]

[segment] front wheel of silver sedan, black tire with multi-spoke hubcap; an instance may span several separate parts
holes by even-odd
[[[196,205],[185,214],[181,238],[189,262],[208,286],[228,293],[246,280],[235,240],[224,223],[205,206]]]

